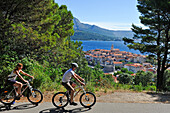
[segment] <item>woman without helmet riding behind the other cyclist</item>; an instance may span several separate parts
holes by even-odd
[[[19,76],[22,81],[28,83],[28,81],[25,80],[19,73],[21,72],[22,74],[24,74],[26,76],[29,76],[32,79],[34,79],[33,76],[31,76],[31,75],[25,73],[24,71],[22,71],[22,68],[23,68],[23,64],[18,63],[17,66],[15,67],[15,69],[12,71],[12,73],[10,75],[8,75],[8,79],[7,79],[7,83],[10,82],[10,83],[13,84],[13,86],[17,87],[17,91],[16,92],[17,92],[17,96],[18,97],[22,96],[21,88],[22,88],[23,84],[21,82],[16,81],[17,76]]]

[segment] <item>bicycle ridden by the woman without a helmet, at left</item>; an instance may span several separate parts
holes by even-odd
[[[23,84],[21,94],[23,94],[27,90],[28,91],[28,93],[27,93],[28,101],[31,102],[32,104],[38,105],[43,100],[43,95],[42,95],[41,91],[39,91],[38,89],[32,88],[32,86],[29,83],[31,81],[32,81],[32,79],[29,79],[28,83]],[[16,95],[17,87],[13,86],[12,89],[11,89],[11,87],[10,88],[9,87],[5,87],[5,88],[1,89],[1,92],[0,92],[0,102],[5,105],[11,105],[15,102],[15,100],[20,99],[20,97],[18,99],[18,97]]]

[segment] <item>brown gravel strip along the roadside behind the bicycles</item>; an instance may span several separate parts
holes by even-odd
[[[43,102],[51,102],[54,92],[44,92]],[[166,103],[170,104],[170,94],[156,94],[147,92],[114,91],[96,92],[97,102],[103,103]],[[79,96],[75,98],[79,101]],[[26,97],[16,102],[28,102]]]

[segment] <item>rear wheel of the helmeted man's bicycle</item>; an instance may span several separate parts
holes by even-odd
[[[58,92],[54,94],[52,98],[52,103],[57,108],[63,108],[67,106],[69,102],[69,97],[65,92]]]

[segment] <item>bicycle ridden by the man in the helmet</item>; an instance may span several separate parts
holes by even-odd
[[[85,108],[90,108],[96,103],[96,96],[92,92],[86,92],[82,85],[79,85],[75,88],[78,91],[74,92],[74,98],[82,90],[83,93],[79,97],[80,104]],[[57,108],[64,108],[70,102],[69,91],[66,92],[57,92],[52,97],[52,103]]]

